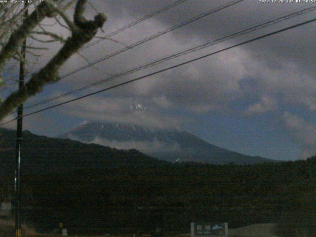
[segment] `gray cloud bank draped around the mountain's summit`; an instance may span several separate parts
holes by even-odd
[[[137,100],[137,98],[135,98]],[[121,122],[148,127],[165,128],[181,126],[183,119],[170,113],[166,115],[157,111],[155,102],[146,101],[142,104],[146,109],[131,109],[135,103],[133,98],[122,97],[89,97],[65,105],[61,113],[82,119],[104,122]],[[141,104],[141,103],[138,103]],[[191,118],[187,118],[188,122]]]

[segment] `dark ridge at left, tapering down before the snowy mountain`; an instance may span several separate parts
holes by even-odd
[[[0,128],[0,174],[14,173],[15,131]],[[23,132],[23,173],[64,172],[122,166],[156,166],[166,162],[136,150],[117,150],[69,139]]]

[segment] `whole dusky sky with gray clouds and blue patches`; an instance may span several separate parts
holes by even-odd
[[[104,32],[98,33],[98,36],[102,37],[173,1],[90,2],[97,11],[105,13],[108,17]],[[187,0],[114,36],[113,40],[103,40],[83,50],[80,53],[84,57],[79,54],[73,56],[63,66],[60,75],[85,65],[86,59],[93,62],[125,47],[124,45],[142,40],[227,2],[229,0]],[[48,85],[42,93],[31,98],[25,105],[313,5],[316,3],[259,3],[259,0],[244,0],[98,63],[93,68],[82,70],[56,84]],[[95,9],[88,6],[86,16],[92,17]],[[314,17],[316,11],[25,112],[32,112],[118,82],[134,79]],[[67,31],[58,25],[45,27],[54,32],[67,34]],[[273,159],[307,158],[316,154],[315,28],[316,24],[311,23],[26,117],[25,129],[37,134],[55,136],[86,119],[156,127],[177,125],[207,142],[246,155]],[[36,45],[35,42],[29,43]],[[33,70],[44,65],[60,45],[49,44],[50,49],[43,53]],[[31,56],[29,57],[31,59]],[[4,79],[16,73],[9,70],[5,72]],[[2,91],[2,97],[15,88],[11,86]],[[131,110],[131,104],[141,104],[146,109]],[[14,127],[15,123],[6,126]]]

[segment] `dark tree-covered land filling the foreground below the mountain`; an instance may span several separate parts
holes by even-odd
[[[188,233],[191,221],[225,221],[231,228],[278,222],[284,237],[315,235],[316,158],[257,165],[169,163],[76,142],[84,149],[72,160],[67,152],[72,141],[49,144],[46,137],[33,137],[25,135],[32,142],[24,151],[32,156],[24,167],[32,172],[22,176],[23,218],[42,230],[62,222],[71,234],[150,233],[160,223],[166,233]],[[37,147],[39,139],[60,155]],[[4,139],[2,146],[9,145]],[[2,151],[1,160],[12,161],[7,154],[14,151]],[[51,169],[43,160],[51,161],[45,163]],[[9,174],[2,175],[0,187],[12,184]]]

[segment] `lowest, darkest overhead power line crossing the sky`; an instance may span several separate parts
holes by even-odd
[[[290,29],[293,29],[293,28],[296,28],[296,27],[299,27],[299,26],[303,26],[303,25],[306,25],[306,24],[309,24],[309,23],[312,23],[312,22],[315,22],[315,21],[316,21],[316,18],[314,18],[314,19],[312,19],[312,20],[304,21],[304,22],[299,23],[299,24],[296,24],[296,25],[292,25],[292,26],[283,28],[283,29],[281,29],[281,30],[274,31],[274,32],[272,32],[272,33],[269,33],[269,34],[266,34],[266,35],[263,35],[263,36],[259,36],[259,37],[253,38],[253,39],[251,39],[251,40],[246,40],[246,41],[243,41],[243,42],[241,42],[241,43],[237,43],[237,44],[234,44],[234,45],[232,45],[232,46],[226,47],[226,48],[224,48],[224,49],[215,51],[215,52],[213,52],[213,53],[209,53],[209,54],[206,54],[206,55],[197,57],[197,58],[195,58],[195,59],[192,59],[192,60],[189,60],[189,61],[186,61],[186,62],[183,62],[183,63],[179,63],[179,64],[177,64],[177,65],[174,65],[174,66],[171,66],[171,67],[162,69],[162,70],[158,70],[158,71],[156,71],[156,72],[154,72],[154,73],[150,73],[150,74],[147,74],[147,75],[145,75],[145,76],[141,76],[141,77],[138,77],[138,78],[135,78],[135,79],[131,79],[131,80],[128,80],[128,81],[119,83],[119,84],[117,84],[117,85],[113,85],[113,86],[110,86],[110,87],[107,87],[107,88],[104,88],[104,89],[95,91],[95,92],[93,92],[93,93],[89,93],[89,94],[86,94],[86,95],[77,97],[77,98],[75,98],[75,99],[71,99],[71,100],[68,100],[68,101],[65,101],[65,102],[62,102],[62,103],[53,105],[53,106],[46,107],[46,108],[41,109],[41,110],[38,110],[38,111],[34,111],[34,112],[32,112],[32,113],[29,113],[29,114],[25,114],[23,117],[27,117],[27,116],[31,116],[31,115],[34,115],[34,114],[38,114],[38,113],[40,113],[40,112],[42,112],[42,111],[46,111],[46,110],[49,110],[49,109],[52,109],[52,108],[55,108],[55,107],[59,107],[59,106],[61,106],[61,105],[65,105],[65,104],[68,104],[68,103],[71,103],[71,102],[74,102],[74,101],[77,101],[77,100],[86,98],[86,97],[91,96],[91,95],[95,95],[95,94],[98,94],[98,93],[101,93],[101,92],[104,92],[104,91],[107,91],[107,90],[110,90],[110,89],[114,89],[114,88],[117,88],[117,87],[119,87],[119,86],[126,85],[126,84],[129,84],[129,83],[131,83],[131,82],[134,82],[134,81],[137,81],[137,80],[140,80],[140,79],[148,78],[148,77],[151,77],[151,76],[153,76],[153,75],[156,75],[156,74],[159,74],[159,73],[168,71],[168,70],[170,70],[170,69],[174,69],[174,68],[177,68],[177,67],[180,67],[180,66],[183,66],[183,65],[186,65],[186,64],[195,62],[195,61],[197,61],[197,60],[200,60],[200,59],[203,59],[203,58],[206,58],[206,57],[210,57],[210,56],[212,56],[212,55],[215,55],[215,54],[224,52],[224,51],[226,51],[226,50],[235,48],[235,47],[237,47],[237,46],[241,46],[241,45],[246,44],[246,43],[250,43],[250,42],[253,42],[253,41],[256,41],[256,40],[260,40],[260,39],[263,39],[263,38],[267,38],[267,37],[269,37],[269,36],[273,36],[273,35],[276,35],[276,34],[278,34],[278,33],[281,33],[281,32],[284,32],[284,31],[287,31],[287,30],[290,30]],[[7,123],[9,123],[9,122],[11,122],[11,121],[14,121],[14,120],[16,120],[16,119],[17,119],[17,118],[14,118],[14,119],[11,119],[11,120],[9,120],[9,121],[7,121],[7,122],[1,123],[0,126],[2,126],[2,125],[4,125],[4,124],[7,124]]]

